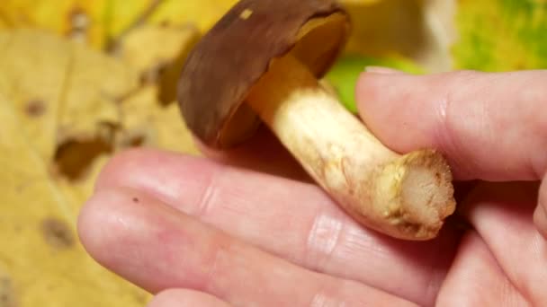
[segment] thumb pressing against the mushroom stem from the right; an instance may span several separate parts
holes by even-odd
[[[433,147],[458,180],[540,180],[547,169],[547,71],[364,73],[364,123],[397,152]]]

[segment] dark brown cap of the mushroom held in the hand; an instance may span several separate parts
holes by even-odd
[[[329,30],[318,31],[332,16],[338,18]],[[261,120],[243,102],[271,60],[292,52],[320,78],[349,31],[349,16],[335,0],[239,1],[186,60],[178,85],[186,125],[213,148],[246,140]]]

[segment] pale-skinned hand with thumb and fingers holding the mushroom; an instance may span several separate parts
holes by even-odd
[[[121,153],[78,231],[94,259],[157,294],[153,307],[546,305],[546,80],[363,74],[372,132],[396,152],[439,148],[461,181],[434,241],[359,226],[267,133],[208,158]]]

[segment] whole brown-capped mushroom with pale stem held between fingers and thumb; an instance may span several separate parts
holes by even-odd
[[[358,223],[430,240],[455,207],[444,156],[395,153],[320,83],[350,31],[335,0],[239,1],[186,59],[178,85],[184,121],[213,150],[245,142],[265,123]]]

